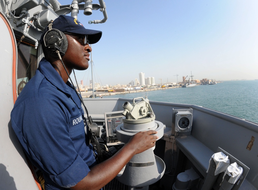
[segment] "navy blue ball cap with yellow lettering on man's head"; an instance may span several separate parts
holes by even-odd
[[[88,35],[88,40],[90,44],[97,43],[102,35],[101,31],[86,29],[76,18],[67,15],[60,15],[58,18],[56,18],[53,21],[52,29],[58,29],[61,32],[69,32],[75,35]],[[49,28],[46,27],[44,32],[42,33],[40,38],[41,44],[44,44],[43,38],[48,30]]]

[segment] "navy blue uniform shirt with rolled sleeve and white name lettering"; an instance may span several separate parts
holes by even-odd
[[[75,186],[96,164],[83,118],[71,83],[43,58],[17,98],[11,122],[25,153],[43,171],[46,189]]]

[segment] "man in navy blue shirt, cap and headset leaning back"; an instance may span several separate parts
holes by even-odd
[[[43,172],[45,190],[101,189],[158,138],[153,130],[136,133],[111,158],[96,161],[85,135],[81,97],[68,78],[73,69],[88,68],[89,44],[101,35],[70,16],[50,22],[40,39],[45,57],[11,112],[12,128],[27,157]]]

